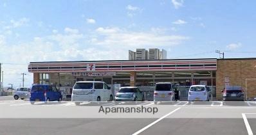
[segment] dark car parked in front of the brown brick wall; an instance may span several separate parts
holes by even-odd
[[[226,86],[222,92],[224,101],[244,100],[244,91],[241,86]]]

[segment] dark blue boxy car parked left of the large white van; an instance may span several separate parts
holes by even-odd
[[[35,101],[61,101],[62,95],[55,86],[46,85],[46,84],[35,84],[32,86],[30,92],[30,102],[34,104]]]

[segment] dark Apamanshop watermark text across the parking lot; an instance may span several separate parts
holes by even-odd
[[[98,113],[158,113],[158,107],[103,107],[100,106]]]

